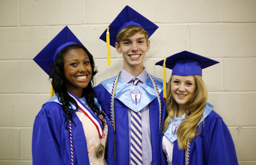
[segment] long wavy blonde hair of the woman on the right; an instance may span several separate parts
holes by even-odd
[[[177,130],[177,140],[180,150],[187,149],[188,139],[191,142],[193,138],[198,134],[197,123],[199,122],[204,106],[208,98],[208,93],[204,81],[201,76],[193,75],[196,81],[196,91],[193,98],[190,100],[189,105],[185,109],[186,120],[184,120]],[[169,80],[166,97],[166,117],[164,120],[163,131],[167,129],[170,122],[177,116],[179,105],[174,100],[171,94],[171,81]]]

